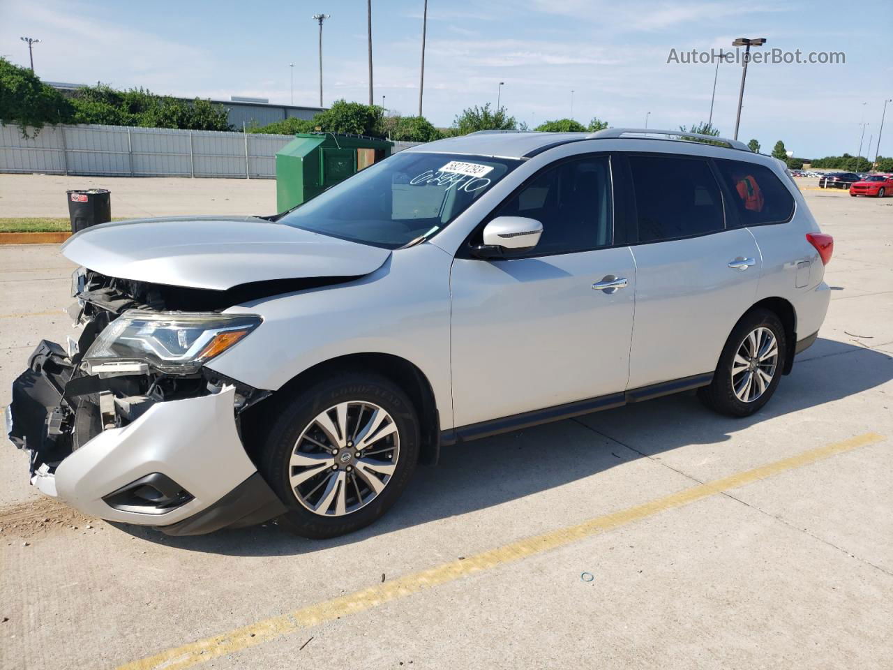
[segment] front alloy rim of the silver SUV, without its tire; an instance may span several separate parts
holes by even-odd
[[[295,498],[322,516],[365,507],[390,482],[400,456],[400,433],[382,407],[364,401],[321,412],[301,432],[288,463]]]

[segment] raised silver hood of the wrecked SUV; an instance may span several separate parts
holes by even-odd
[[[226,290],[253,281],[359,277],[388,249],[254,216],[137,219],[82,230],[63,255],[110,277]]]

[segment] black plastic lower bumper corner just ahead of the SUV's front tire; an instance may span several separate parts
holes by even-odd
[[[261,473],[254,473],[211,507],[183,521],[159,526],[158,530],[168,535],[204,535],[221,528],[243,528],[270,521],[285,511],[285,505],[263,481]]]

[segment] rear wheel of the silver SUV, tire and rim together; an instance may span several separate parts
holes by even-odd
[[[751,310],[726,340],[714,381],[697,389],[697,397],[722,415],[752,415],[778,388],[787,352],[778,315],[763,308]]]

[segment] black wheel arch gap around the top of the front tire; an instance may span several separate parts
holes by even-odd
[[[438,462],[440,455],[440,420],[434,389],[431,387],[428,377],[421,372],[421,369],[416,364],[393,354],[380,352],[346,354],[312,365],[288,380],[279,390],[274,391],[270,398],[249,407],[242,414],[242,424],[246,426],[246,432],[252,431],[255,434],[263,434],[264,425],[269,424],[265,419],[271,411],[275,411],[277,398],[291,396],[299,392],[300,389],[305,389],[333,373],[343,371],[378,373],[403,389],[406,395],[413,401],[413,406],[415,406],[416,413],[419,416],[421,437],[419,460],[425,465],[435,465]],[[247,443],[246,448],[248,448],[252,458],[255,458],[254,453],[252,453],[254,449]]]

